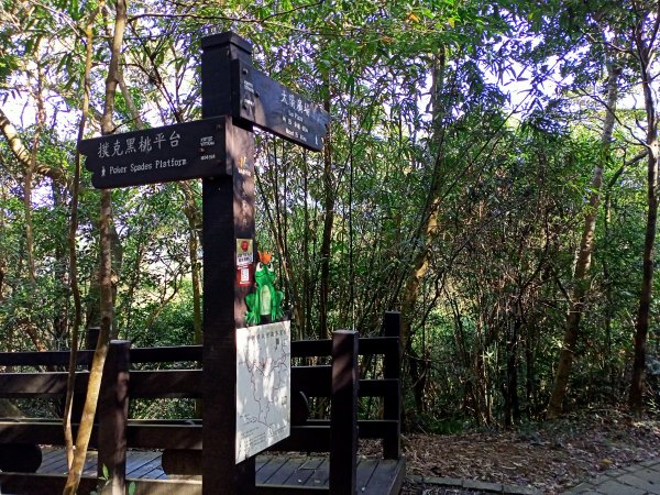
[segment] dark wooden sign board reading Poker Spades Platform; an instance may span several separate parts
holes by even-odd
[[[97,189],[228,175],[224,117],[80,141]],[[229,172],[230,174],[231,172]]]

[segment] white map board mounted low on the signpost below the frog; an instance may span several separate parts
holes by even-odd
[[[237,464],[290,435],[290,322],[237,329]]]

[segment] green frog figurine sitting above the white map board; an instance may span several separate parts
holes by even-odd
[[[273,254],[267,251],[258,252],[258,262],[254,272],[256,292],[248,294],[245,304],[248,312],[245,321],[248,324],[260,324],[262,318],[265,322],[277,321],[284,316],[282,302],[284,293],[277,290],[273,285],[275,280],[275,268],[273,268]]]

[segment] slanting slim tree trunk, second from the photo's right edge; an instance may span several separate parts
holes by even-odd
[[[548,404],[548,419],[558,418],[563,408],[563,399],[566,393],[569,376],[573,365],[575,344],[580,334],[580,319],[584,307],[584,299],[588,288],[588,270],[591,266],[592,252],[594,249],[594,233],[596,230],[596,217],[601,202],[601,188],[603,185],[603,169],[609,160],[609,142],[614,130],[616,101],[618,97],[618,75],[620,69],[609,59],[607,66],[607,105],[605,108],[605,122],[601,135],[601,157],[594,166],[592,177],[592,194],[588,207],[584,216],[582,239],[575,261],[573,274],[573,293],[569,300],[566,315],[566,327],[564,330],[561,351],[559,352],[559,364],[554,373],[554,386]]]

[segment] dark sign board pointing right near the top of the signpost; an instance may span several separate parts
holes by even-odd
[[[239,109],[234,114],[311,151],[323,148],[330,116],[251,65],[237,63]]]

